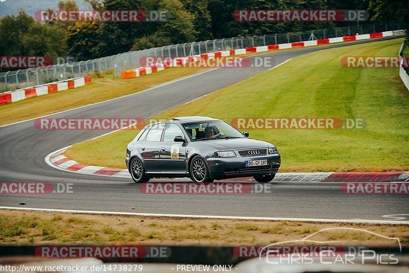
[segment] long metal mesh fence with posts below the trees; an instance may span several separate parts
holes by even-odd
[[[29,68],[0,73],[0,92],[41,85],[68,78],[86,76],[94,71],[103,72],[113,70],[114,76],[120,77],[121,71],[140,67],[139,60],[144,56],[184,57],[218,50],[295,43],[298,41],[349,36],[355,35],[356,33],[368,34],[399,30],[401,27],[402,23],[399,22],[373,23],[322,30],[214,39],[139,51],[129,51],[109,57],[72,62],[65,65],[53,65],[50,67]]]

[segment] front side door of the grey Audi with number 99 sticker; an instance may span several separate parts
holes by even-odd
[[[188,142],[175,142],[175,136],[185,134],[178,124],[170,122],[166,125],[159,158],[161,164],[161,173],[186,173],[186,147]]]

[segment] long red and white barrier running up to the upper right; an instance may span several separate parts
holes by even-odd
[[[382,38],[382,37],[389,37],[395,35],[403,34],[403,30],[394,30],[394,31],[384,31],[378,33],[371,33],[371,34],[361,34],[361,35],[352,35],[352,36],[344,36],[344,37],[335,37],[329,39],[321,39],[321,40],[310,40],[310,41],[300,41],[297,43],[288,43],[288,44],[279,44],[279,45],[270,45],[270,46],[262,46],[262,47],[251,47],[251,48],[240,48],[240,49],[233,49],[233,50],[226,50],[226,51],[217,51],[213,53],[206,53],[188,57],[179,57],[174,58],[172,60],[163,62],[161,64],[156,64],[153,66],[146,66],[140,67],[137,69],[127,70],[121,72],[121,78],[129,79],[140,77],[143,75],[151,74],[154,72],[162,71],[166,68],[171,68],[178,65],[185,65],[188,62],[192,61],[199,61],[201,59],[211,59],[211,58],[218,58],[218,57],[228,57],[228,56],[235,56],[247,53],[255,53],[255,52],[264,52],[269,50],[279,50],[279,49],[289,49],[289,48],[302,48],[302,47],[311,47],[311,46],[318,46],[324,44],[332,44],[332,43],[342,43],[344,41],[357,41],[357,40],[365,40],[365,39],[373,39],[373,38]]]

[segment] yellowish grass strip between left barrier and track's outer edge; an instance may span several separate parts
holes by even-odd
[[[324,44],[313,47],[325,46],[328,45]],[[294,49],[273,50],[269,52],[287,50]],[[248,53],[240,55],[240,57],[264,53],[266,52]],[[70,89],[62,92],[57,92],[46,96],[20,100],[17,102],[4,104],[3,106],[0,106],[0,125],[5,125],[39,116],[49,115],[64,110],[73,109],[76,107],[86,106],[91,103],[96,103],[112,98],[125,96],[128,94],[146,90],[148,88],[160,85],[161,83],[170,80],[186,77],[201,72],[203,70],[207,70],[207,68],[189,69],[172,68],[166,69],[158,73],[152,73],[149,75],[145,75],[143,77],[132,79],[113,78],[112,71],[102,74],[96,72],[91,75],[93,77],[93,83],[91,85],[76,89]]]

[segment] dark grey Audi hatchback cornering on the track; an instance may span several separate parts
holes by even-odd
[[[281,156],[275,145],[248,138],[209,117],[177,117],[146,125],[128,144],[126,165],[136,183],[189,177],[194,182],[253,176],[270,182]]]

